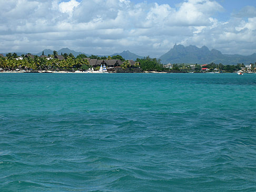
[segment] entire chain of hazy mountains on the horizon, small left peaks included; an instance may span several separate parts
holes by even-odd
[[[44,55],[52,55],[53,50],[51,49],[44,49]],[[42,55],[43,52],[35,53],[33,55]],[[82,52],[75,52],[74,50],[68,49],[68,48],[62,48],[60,50],[57,50],[57,53],[61,55],[64,53],[70,54],[72,53],[75,57],[79,54],[84,54],[88,56],[89,54],[85,54]],[[17,55],[27,54],[27,53],[16,53]],[[3,55],[6,55],[4,53]],[[136,60],[137,58],[143,58],[143,56],[136,55],[134,53],[131,53],[129,50],[123,51],[122,53],[115,53],[114,55],[121,55],[124,59],[133,59]],[[174,45],[173,48],[169,50],[169,52],[165,53],[161,57],[162,64],[167,63],[185,63],[185,64],[210,64],[210,63],[222,63],[223,65],[236,65],[238,63],[244,63],[244,64],[250,64],[256,62],[256,53],[244,56],[244,55],[227,55],[222,54],[219,50],[212,49],[209,50],[208,47],[203,46],[201,48],[198,48],[194,45],[190,46],[183,46],[183,45]]]

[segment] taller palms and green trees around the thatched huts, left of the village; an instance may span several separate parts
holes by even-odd
[[[27,53],[30,55],[30,53]],[[42,53],[44,55],[44,52]],[[74,71],[74,70],[87,70],[88,68],[92,68],[88,62],[87,56],[84,54],[77,55],[75,57],[72,53],[70,54],[62,54],[65,58],[64,60],[59,60],[54,58],[57,55],[57,52],[54,50],[52,55],[48,55],[48,59],[46,57],[40,57],[34,55],[34,58],[31,56],[25,57],[22,55],[22,59],[17,59],[18,55],[16,53],[8,53],[6,54],[7,58],[0,57],[0,68],[5,70],[65,70],[65,71]],[[51,58],[51,59],[49,59]],[[167,70],[163,67],[159,59],[150,58],[149,56],[144,57],[143,59],[137,58],[135,64],[132,66],[129,60],[125,60],[121,55],[114,56],[97,56],[91,55],[89,56],[91,59],[102,59],[102,60],[110,60],[110,59],[119,59],[122,61],[121,67],[123,69],[129,67],[137,67],[142,70]],[[95,70],[99,69],[99,67],[94,67]]]

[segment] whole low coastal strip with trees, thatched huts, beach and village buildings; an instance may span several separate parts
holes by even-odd
[[[254,73],[256,63],[244,65],[223,65],[215,64],[166,64],[163,65],[160,59],[143,58],[124,59],[121,55],[112,56],[86,56],[79,54],[76,57],[70,53],[57,51],[47,56],[42,52],[41,56],[32,54],[8,53],[6,56],[0,54],[0,72],[4,73],[75,73],[86,72],[90,69],[99,70],[101,65],[107,67],[109,73],[233,73],[241,70],[243,73]]]

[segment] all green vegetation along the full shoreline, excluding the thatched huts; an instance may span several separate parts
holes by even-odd
[[[90,66],[85,54],[80,54],[76,58],[72,53],[63,54],[65,59],[57,59],[54,56],[57,55],[57,52],[54,51],[53,55],[39,57],[37,55],[29,55],[29,53],[25,56],[22,55],[22,58],[19,58],[16,53],[8,53],[6,57],[0,57],[0,68],[4,70],[64,70],[68,72],[72,72],[74,70],[87,70],[88,68],[92,68]],[[255,72],[256,63],[250,64],[250,66],[245,66],[242,64],[237,65],[223,65],[223,64],[168,64],[162,65],[160,59],[150,58],[149,56],[144,58],[137,58],[135,62],[130,60],[125,60],[120,55],[115,56],[97,56],[91,55],[91,59],[102,59],[102,60],[121,60],[123,63],[121,68],[126,73],[136,69],[136,72],[143,71],[157,71],[157,72],[170,72],[170,73],[209,73],[209,72],[218,72],[218,73],[233,73],[238,70],[243,70],[244,72]],[[120,66],[119,66],[120,67]],[[94,70],[99,69],[100,67],[94,66]],[[132,70],[131,70],[132,69]]]

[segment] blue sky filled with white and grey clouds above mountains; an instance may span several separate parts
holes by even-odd
[[[0,0],[0,53],[68,47],[160,57],[174,45],[256,53],[255,0]]]

